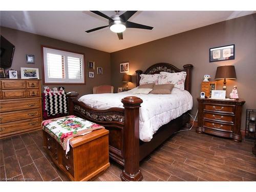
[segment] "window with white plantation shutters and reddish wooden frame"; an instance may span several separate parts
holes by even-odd
[[[42,47],[45,83],[85,83],[83,54]]]

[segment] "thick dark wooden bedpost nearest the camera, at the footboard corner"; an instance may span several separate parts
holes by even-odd
[[[139,108],[143,102],[138,97],[125,97],[124,106],[124,169],[122,181],[141,181],[139,159]]]

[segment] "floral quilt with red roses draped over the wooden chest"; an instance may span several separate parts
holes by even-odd
[[[49,133],[66,150],[69,151],[69,140],[94,130],[104,129],[103,126],[81,119],[74,115],[42,121],[42,129]]]

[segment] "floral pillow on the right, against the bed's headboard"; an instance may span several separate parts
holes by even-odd
[[[184,71],[179,73],[160,72],[158,84],[174,84],[175,88],[184,90],[186,75]]]

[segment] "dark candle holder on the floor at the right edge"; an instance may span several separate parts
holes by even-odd
[[[245,138],[256,139],[256,110],[246,109]]]

